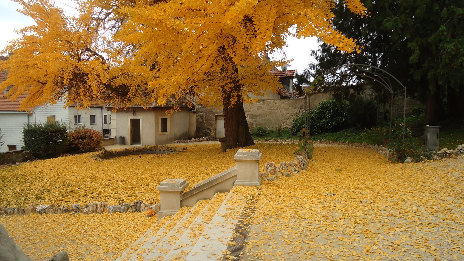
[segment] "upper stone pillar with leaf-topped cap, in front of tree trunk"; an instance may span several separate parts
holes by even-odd
[[[263,153],[259,150],[237,150],[233,156],[237,161],[237,180],[234,186],[259,186],[261,178],[259,177],[259,161]]]

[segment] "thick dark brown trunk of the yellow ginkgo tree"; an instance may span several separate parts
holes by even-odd
[[[248,129],[248,122],[246,121],[241,94],[238,95],[237,102],[232,104],[231,107],[231,94],[233,92],[240,93],[240,91],[241,87],[239,85],[235,86],[234,90],[227,92],[222,99],[227,149],[246,147],[255,144],[251,137],[250,130]]]

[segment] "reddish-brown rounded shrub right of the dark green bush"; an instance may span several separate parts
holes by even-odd
[[[68,147],[77,152],[100,150],[103,135],[94,129],[76,129],[68,134]]]

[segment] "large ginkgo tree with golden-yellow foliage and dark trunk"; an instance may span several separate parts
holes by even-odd
[[[249,94],[279,85],[269,70],[286,61],[263,52],[289,36],[357,49],[332,27],[338,0],[88,0],[76,2],[74,15],[49,0],[15,1],[36,24],[6,48],[14,54],[0,64],[8,72],[0,88],[13,85],[13,99],[29,94],[23,109],[59,99],[127,108],[188,98],[223,106],[228,148],[253,144],[243,109]],[[344,2],[365,15],[360,0]]]

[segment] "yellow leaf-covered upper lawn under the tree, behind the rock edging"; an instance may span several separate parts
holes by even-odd
[[[267,161],[288,161],[296,145],[259,144],[261,169]],[[251,148],[251,147],[250,147]],[[39,204],[119,204],[158,202],[156,189],[167,178],[185,178],[190,186],[236,164],[237,150],[220,152],[219,144],[196,144],[178,154],[143,154],[96,161],[90,154],[25,163],[0,170],[0,206]]]

